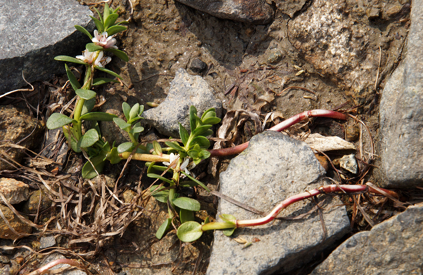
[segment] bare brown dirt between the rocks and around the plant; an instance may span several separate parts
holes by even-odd
[[[80,2],[89,4],[86,0]],[[361,120],[370,129],[370,136],[376,136],[376,91],[367,94],[365,98],[346,92],[329,77],[322,77],[321,72],[316,71],[316,68],[304,59],[303,54],[292,46],[288,35],[288,22],[301,14],[302,8],[305,10],[310,5],[309,2],[296,1],[288,7],[284,6],[286,3],[278,3],[275,20],[265,26],[218,19],[170,0],[133,0],[133,12],[129,1],[111,2],[109,4],[113,8],[121,7],[120,19],[130,19],[128,30],[116,37],[119,49],[128,54],[129,62],[113,58],[109,68],[120,74],[123,81],[122,84],[109,84],[98,90],[101,98],[113,98],[114,101],[116,97],[122,97],[130,105],[136,102],[161,103],[166,98],[175,71],[185,68],[190,74],[201,75],[214,88],[217,97],[222,100],[225,112],[247,109],[261,114],[264,118],[267,112],[278,111],[281,116],[287,118],[306,110],[335,109],[341,106],[343,110],[352,108],[352,114],[361,114]],[[92,10],[94,7],[102,10],[99,4],[90,5]],[[282,9],[285,13],[281,12]],[[368,20],[366,14],[358,11],[358,5],[355,9],[352,6],[352,14],[361,18],[361,21]],[[386,30],[388,26],[392,27],[390,24],[393,23],[381,21],[378,25],[377,21],[372,21],[372,24]],[[398,26],[402,32],[406,32],[406,23]],[[382,36],[379,39],[373,42],[387,45],[384,51],[392,52],[390,56],[395,57],[401,53],[401,43],[398,49],[397,44],[386,44],[386,39]],[[207,65],[201,73],[190,69],[191,62],[197,58]],[[386,57],[383,62],[387,63]],[[392,63],[394,64],[394,61]],[[393,67],[395,65],[392,65]],[[381,75],[380,87],[392,68]],[[284,90],[290,86],[300,88]],[[270,104],[257,104],[260,97]],[[113,105],[114,102],[108,102],[109,105],[110,103]],[[354,120],[346,123],[316,120],[310,128],[341,137],[347,134],[349,139],[355,142],[358,142],[360,136],[360,127]],[[349,129],[347,133],[345,129]],[[363,130],[362,134],[364,150],[370,150],[369,133]],[[228,160],[222,161],[221,169],[225,168],[227,162]],[[122,166],[123,164],[119,165],[118,169],[122,169]],[[125,188],[135,188],[134,182],[139,180],[142,166],[133,164],[128,167],[124,175]],[[109,167],[106,167],[106,173],[110,172],[107,171]],[[371,173],[366,176],[366,180],[374,180]],[[203,181],[216,186],[218,179],[207,175]],[[216,205],[213,202],[212,197],[205,197],[202,202],[202,206],[211,215],[215,215]],[[158,210],[156,205],[149,207],[154,211]],[[151,220],[157,219],[159,222],[164,219],[160,212],[165,210],[159,208],[158,211],[151,213],[154,217]],[[200,215],[204,216],[205,213]],[[175,234],[169,233],[165,240],[154,243],[152,240],[157,225],[151,226],[144,222],[146,221],[136,222],[122,238],[114,240],[114,250],[105,252],[114,272],[121,271],[123,267],[127,274],[134,275],[193,272],[205,274],[211,236],[194,245],[181,245]],[[150,244],[153,244],[151,249]],[[149,250],[143,250],[146,247]],[[109,269],[103,262],[99,260],[94,268],[101,274],[107,274]]]

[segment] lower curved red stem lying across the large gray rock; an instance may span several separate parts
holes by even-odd
[[[390,194],[394,193],[395,196],[398,197],[398,194],[393,191],[389,191],[382,188],[379,188],[379,189],[381,189],[384,192],[389,192]],[[273,210],[270,211],[270,213],[263,218],[258,218],[253,220],[241,220],[241,221],[236,220],[235,221],[236,227],[258,226],[265,223],[269,223],[274,218],[276,218],[276,216],[279,214],[280,211],[288,207],[288,205],[293,204],[294,202],[297,202],[297,201],[302,201],[303,199],[311,198],[319,194],[326,194],[326,193],[333,193],[333,192],[357,193],[357,192],[365,192],[365,191],[370,191],[376,194],[382,194],[378,190],[368,187],[366,185],[331,184],[331,185],[321,186],[320,188],[299,193],[297,195],[289,197],[288,199],[285,199],[280,204],[278,204],[275,208],[273,208]]]

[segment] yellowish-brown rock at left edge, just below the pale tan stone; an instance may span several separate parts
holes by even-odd
[[[27,223],[22,222],[18,217],[14,215],[12,210],[9,207],[0,204],[0,210],[5,216],[6,220],[8,221],[9,225],[17,232],[19,235],[16,235],[14,231],[12,231],[8,224],[5,223],[3,218],[0,218],[0,238],[1,239],[18,239],[27,236],[27,234],[31,233],[32,227]]]

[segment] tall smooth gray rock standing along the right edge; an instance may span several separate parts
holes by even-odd
[[[379,154],[384,187],[423,185],[423,7],[413,5],[404,64],[398,66],[382,93]]]

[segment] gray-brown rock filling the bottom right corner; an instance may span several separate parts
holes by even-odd
[[[350,237],[312,275],[422,274],[423,206],[406,211]]]

